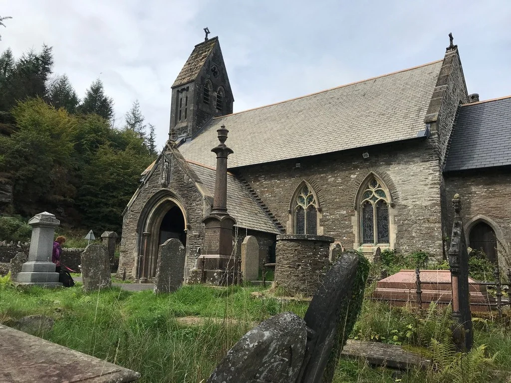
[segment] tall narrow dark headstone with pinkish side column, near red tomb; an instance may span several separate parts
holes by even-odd
[[[449,267],[452,282],[453,340],[460,350],[472,348],[472,315],[469,298],[469,253],[461,219],[461,199],[455,194],[452,200],[454,221],[452,225]]]

